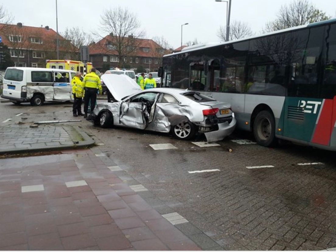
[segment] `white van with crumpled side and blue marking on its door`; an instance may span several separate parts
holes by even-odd
[[[76,72],[62,69],[10,67],[3,78],[2,98],[15,104],[73,100],[71,80]]]

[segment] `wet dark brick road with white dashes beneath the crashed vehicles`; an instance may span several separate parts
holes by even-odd
[[[71,103],[42,107],[0,103],[0,111],[0,126],[81,119],[72,116]],[[201,148],[168,134],[100,129],[85,120],[73,124],[103,144],[95,152],[125,170],[124,181],[149,190],[142,195],[157,211],[179,213],[204,232],[206,236],[198,239],[220,245],[214,249],[336,247],[334,152],[292,144],[275,149],[238,144],[232,140],[253,141],[250,133],[239,131],[219,146]],[[193,141],[204,140],[199,136]],[[154,150],[150,146],[164,143],[176,149]]]

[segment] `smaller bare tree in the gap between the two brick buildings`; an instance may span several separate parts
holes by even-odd
[[[66,39],[64,45],[66,51],[69,52],[70,58],[74,60],[80,59],[80,47],[88,46],[93,41],[92,36],[79,27],[67,27],[65,32],[61,35]]]

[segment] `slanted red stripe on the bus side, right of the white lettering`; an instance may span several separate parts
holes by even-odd
[[[313,143],[329,145],[331,136],[330,118],[333,111],[333,100],[326,99],[324,101],[323,108],[321,108],[320,110],[322,110],[322,112],[320,117],[318,118],[319,121],[317,122],[314,136],[311,141]]]

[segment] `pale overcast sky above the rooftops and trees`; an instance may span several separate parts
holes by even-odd
[[[265,23],[276,17],[281,5],[291,0],[232,0],[231,21],[247,22],[253,32],[259,33]],[[319,9],[335,17],[336,0],[311,0]],[[56,30],[55,0],[1,0],[14,15],[14,23],[26,26],[49,26]],[[79,26],[90,32],[99,31],[100,14],[106,8],[122,6],[136,13],[146,38],[164,36],[177,48],[183,42],[197,38],[202,43],[217,42],[217,31],[225,25],[226,3],[215,0],[58,0],[58,31]]]

